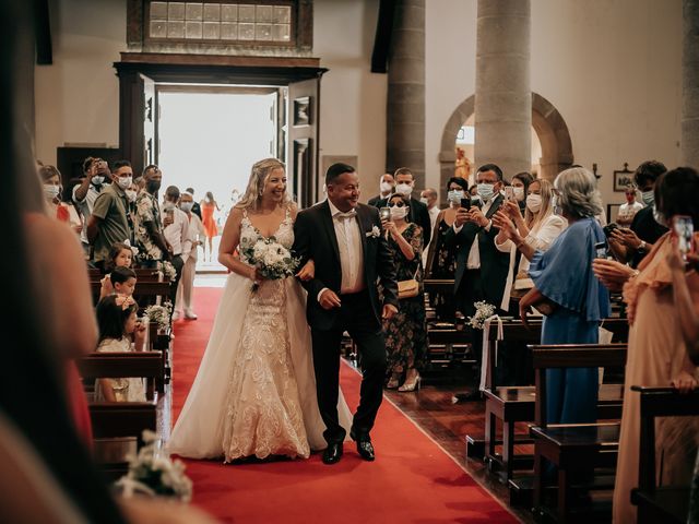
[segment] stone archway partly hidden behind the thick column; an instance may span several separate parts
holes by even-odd
[[[457,107],[445,126],[439,152],[439,184],[442,201],[446,198],[445,184],[454,172],[457,133],[463,122],[473,115],[474,107],[475,96],[471,95]],[[558,172],[572,165],[572,142],[564,117],[550,102],[537,93],[532,93],[532,127],[542,144],[538,176],[553,180]]]

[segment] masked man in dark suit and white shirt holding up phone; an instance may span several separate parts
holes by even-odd
[[[505,198],[500,194],[503,187],[502,170],[495,164],[486,164],[476,172],[478,195],[483,206],[459,209],[454,225],[447,231],[445,241],[457,247],[457,273],[454,275],[454,298],[457,310],[465,317],[475,313],[474,302],[485,300],[500,309],[505,285],[510,266],[510,253],[498,251],[495,237],[499,229],[490,217],[498,211]],[[473,350],[479,365],[483,333],[473,330]],[[479,372],[476,374],[479,377]],[[461,400],[479,397],[477,388]]]

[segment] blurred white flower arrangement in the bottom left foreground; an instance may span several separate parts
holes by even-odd
[[[173,461],[161,449],[157,434],[143,431],[145,445],[138,456],[131,456],[129,473],[116,483],[121,493],[129,498],[134,495],[174,498],[189,502],[192,498],[192,481],[185,475],[185,464]]]

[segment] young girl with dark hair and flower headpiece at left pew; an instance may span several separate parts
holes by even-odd
[[[142,352],[145,324],[137,319],[139,306],[126,295],[109,295],[97,303],[99,343],[97,352]],[[131,344],[133,335],[133,344]],[[108,402],[144,402],[143,379],[99,379],[95,400]]]

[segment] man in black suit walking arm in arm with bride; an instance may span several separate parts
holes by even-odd
[[[374,461],[369,431],[382,398],[386,345],[382,319],[398,312],[395,267],[376,207],[359,204],[359,177],[354,167],[333,164],[325,175],[328,200],[301,211],[294,224],[294,254],[301,266],[313,260],[316,275],[301,282],[308,291],[318,406],[328,441],[323,462],[342,457],[345,430],[337,420],[340,343],[347,331],[362,355],[362,390],[350,436],[357,452]],[[379,301],[377,279],[383,287]]]

